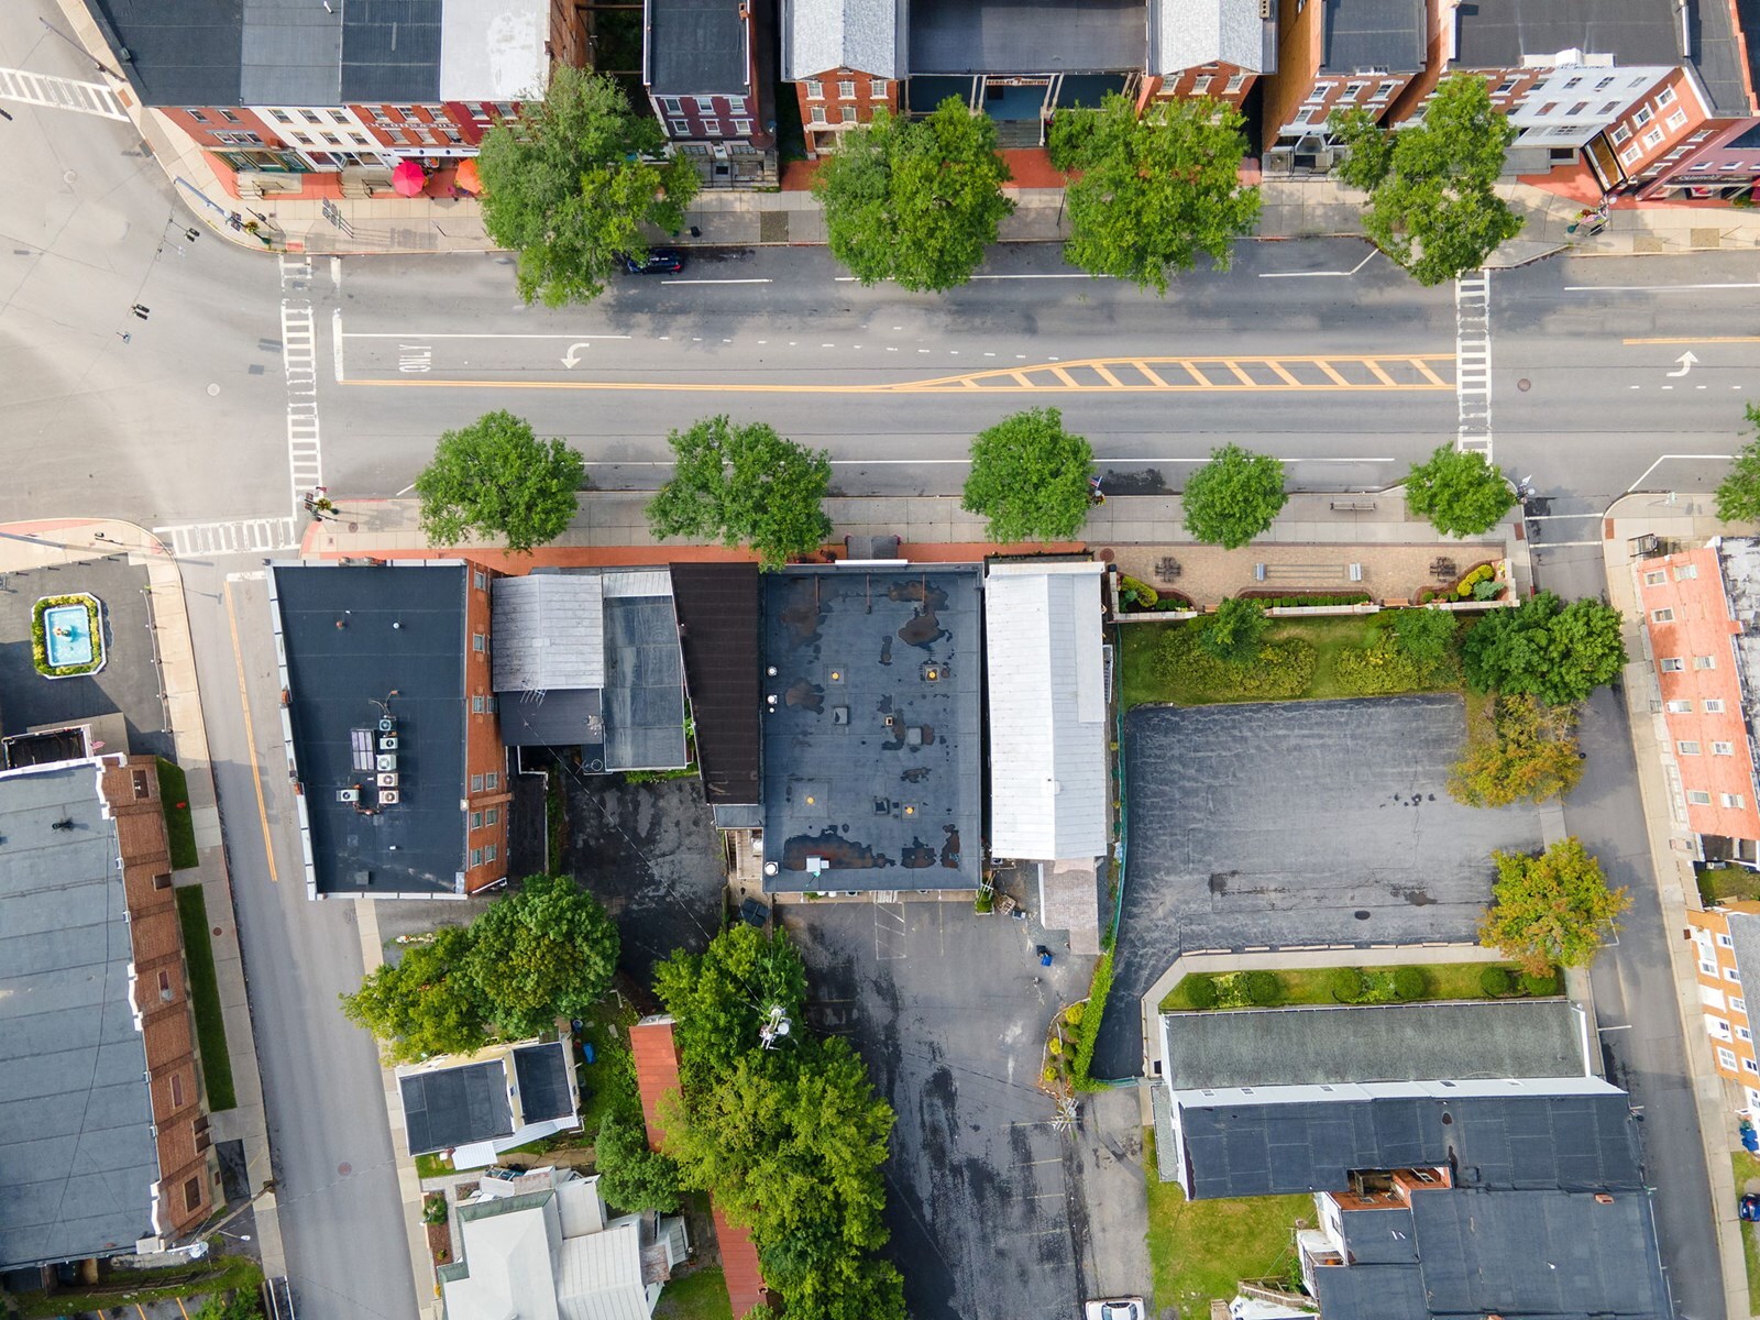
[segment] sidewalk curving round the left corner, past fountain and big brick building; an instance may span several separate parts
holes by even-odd
[[[185,612],[183,577],[178,561],[146,530],[109,519],[56,519],[11,523],[0,528],[0,572],[21,572],[40,565],[77,563],[127,551],[130,565],[144,565],[150,588],[150,620],[158,651],[178,766],[188,776],[190,817],[195,824],[199,864],[176,873],[180,887],[199,884],[208,905],[213,938],[215,975],[220,986],[220,1010],[225,1019],[227,1056],[232,1063],[234,1109],[209,1118],[215,1142],[238,1140],[245,1148],[245,1172],[252,1192],[260,1192],[273,1177],[269,1132],[262,1105],[262,1077],[257,1072],[257,1042],[252,1033],[250,1005],[245,998],[245,963],[238,947],[238,922],[232,908],[232,882],[227,875],[225,848],[220,840],[220,808],[215,797],[213,767],[208,753],[208,727],[202,722],[201,692],[195,683],[195,648]],[[255,1202],[255,1246],[268,1278],[287,1272],[275,1193]]]

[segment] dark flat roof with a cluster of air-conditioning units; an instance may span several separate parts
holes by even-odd
[[[454,561],[283,563],[273,574],[317,891],[458,892],[470,570]],[[356,769],[350,736],[377,729],[378,702],[396,718],[401,801],[364,815],[336,794],[373,781]],[[370,806],[371,787],[361,797]]]

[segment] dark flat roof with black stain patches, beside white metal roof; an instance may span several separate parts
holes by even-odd
[[[764,665],[764,887],[975,887],[979,568],[769,574]]]

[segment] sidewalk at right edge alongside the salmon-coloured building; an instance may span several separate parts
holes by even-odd
[[[1716,517],[1712,496],[1679,496],[1677,503],[1663,503],[1651,495],[1626,495],[1607,509],[1602,554],[1607,565],[1607,600],[1619,609],[1626,623],[1626,651],[1632,656],[1623,674],[1626,718],[1632,725],[1632,750],[1639,767],[1639,792],[1644,799],[1644,824],[1651,843],[1651,866],[1660,885],[1663,928],[1684,929],[1688,910],[1702,906],[1698,882],[1693,875],[1691,852],[1684,850],[1688,831],[1674,818],[1668,781],[1663,774],[1667,727],[1663,725],[1661,688],[1656,681],[1654,656],[1649,653],[1649,634],[1637,621],[1637,584],[1632,577],[1632,537],[1654,533],[1670,540],[1702,544],[1709,537],[1728,532]],[[1725,1082],[1711,1061],[1711,1045],[1698,1001],[1698,975],[1693,963],[1693,945],[1686,940],[1668,940],[1670,972],[1674,973],[1676,1007],[1681,1012],[1681,1031],[1686,1038],[1688,1086],[1698,1105],[1698,1128],[1705,1144],[1705,1165],[1711,1172],[1711,1213],[1718,1234],[1718,1258],[1723,1265],[1725,1308],[1732,1316],[1749,1313],[1748,1267],[1742,1257],[1742,1225],[1735,1218],[1735,1176],[1730,1151],[1735,1149],[1735,1111],[1741,1107],[1735,1088]]]

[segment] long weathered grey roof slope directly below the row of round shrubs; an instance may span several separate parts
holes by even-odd
[[[1167,1014],[1163,1038],[1176,1091],[1588,1072],[1566,1000]]]

